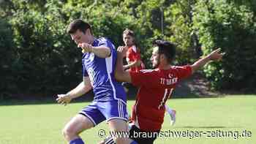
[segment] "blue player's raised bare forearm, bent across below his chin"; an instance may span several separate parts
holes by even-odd
[[[83,53],[94,53],[99,58],[108,58],[111,54],[110,48],[108,48],[105,45],[100,45],[98,47],[93,47],[92,45],[89,45],[88,43],[80,43],[78,44],[79,48],[82,48]]]

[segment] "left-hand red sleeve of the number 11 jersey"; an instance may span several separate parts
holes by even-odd
[[[142,69],[139,72],[129,72],[132,85],[134,86],[154,86],[155,83],[155,75],[154,70],[151,69]]]

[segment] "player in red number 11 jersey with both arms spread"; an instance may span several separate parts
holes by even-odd
[[[143,69],[140,72],[124,71],[122,66],[124,48],[118,48],[116,79],[139,87],[135,105],[132,107],[133,125],[129,130],[129,137],[139,144],[154,143],[157,138],[155,133],[160,132],[164,121],[165,102],[171,96],[177,83],[192,75],[208,61],[219,60],[223,55],[219,53],[220,49],[217,49],[192,65],[177,67],[170,65],[175,57],[175,45],[162,40],[157,40],[155,44],[157,47],[154,48],[151,56],[154,69]],[[152,137],[138,135],[145,134],[145,132]],[[134,137],[135,135],[137,137]],[[111,143],[111,141],[113,140],[110,137],[105,139],[105,143]]]

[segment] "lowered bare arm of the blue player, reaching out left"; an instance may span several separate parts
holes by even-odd
[[[67,105],[72,99],[86,94],[86,92],[90,91],[91,88],[89,77],[83,77],[83,82],[81,82],[76,88],[72,89],[67,94],[58,94],[56,101],[61,105]]]

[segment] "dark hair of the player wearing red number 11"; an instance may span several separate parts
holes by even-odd
[[[153,45],[156,45],[158,49],[158,53],[164,54],[167,57],[167,61],[170,63],[175,58],[176,54],[176,45],[171,42],[167,42],[165,40],[154,40]]]

